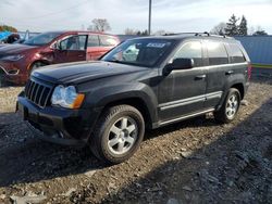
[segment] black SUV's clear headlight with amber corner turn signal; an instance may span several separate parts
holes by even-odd
[[[62,107],[78,109],[83,103],[84,97],[84,94],[76,92],[74,86],[63,87],[59,85],[53,90],[51,103]]]

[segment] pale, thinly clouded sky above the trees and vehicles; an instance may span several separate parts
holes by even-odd
[[[0,0],[0,24],[18,30],[86,29],[107,18],[110,33],[147,29],[149,0]],[[205,31],[243,14],[248,27],[272,34],[272,0],[152,0],[152,31]]]

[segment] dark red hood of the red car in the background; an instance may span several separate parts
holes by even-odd
[[[26,46],[21,43],[12,43],[0,47],[1,55],[10,55],[10,54],[21,54],[24,51],[36,49],[34,46]]]

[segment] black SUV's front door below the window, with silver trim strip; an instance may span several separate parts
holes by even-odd
[[[160,120],[172,119],[203,109],[206,78],[202,68],[172,72],[159,88]],[[165,93],[165,94],[164,94]]]

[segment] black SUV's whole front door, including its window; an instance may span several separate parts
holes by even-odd
[[[159,119],[185,116],[203,110],[206,73],[202,68],[202,46],[198,40],[187,41],[173,54],[172,60],[193,59],[195,67],[172,71],[159,85]]]

